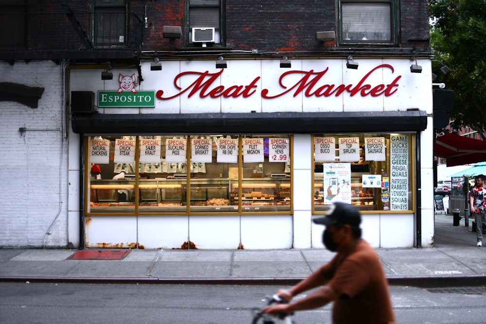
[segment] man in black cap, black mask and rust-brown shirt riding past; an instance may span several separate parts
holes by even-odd
[[[337,255],[290,290],[277,295],[290,302],[292,297],[320,286],[302,299],[263,308],[264,313],[292,313],[333,303],[332,323],[394,323],[388,282],[376,251],[361,239],[361,215],[352,205],[330,205],[325,217],[313,220],[326,226],[322,240]]]

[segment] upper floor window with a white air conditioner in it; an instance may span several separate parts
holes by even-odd
[[[223,45],[224,0],[188,0],[186,5],[187,44]]]

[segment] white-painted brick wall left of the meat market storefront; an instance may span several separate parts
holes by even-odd
[[[2,82],[44,87],[37,108],[0,102],[0,248],[68,244],[61,71],[50,61],[0,63]]]

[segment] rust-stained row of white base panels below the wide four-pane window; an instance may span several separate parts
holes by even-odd
[[[85,231],[87,248],[293,248],[292,215],[88,216]]]

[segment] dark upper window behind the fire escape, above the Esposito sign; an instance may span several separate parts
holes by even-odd
[[[94,0],[93,43],[95,47],[125,46],[127,11],[126,0]]]

